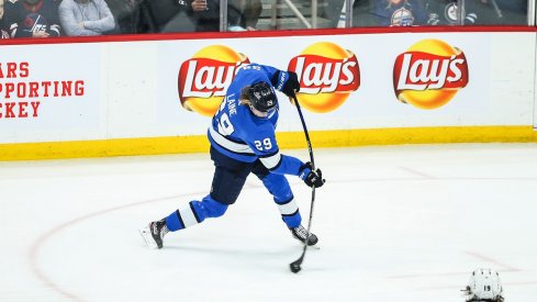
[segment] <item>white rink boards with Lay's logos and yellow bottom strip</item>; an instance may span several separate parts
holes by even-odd
[[[0,59],[0,160],[204,152],[210,115],[254,61],[299,74],[316,147],[537,142],[536,33],[517,30],[12,42]],[[280,147],[304,147],[280,97]]]

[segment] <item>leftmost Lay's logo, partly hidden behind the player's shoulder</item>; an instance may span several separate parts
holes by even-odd
[[[219,57],[221,59],[213,59]],[[212,116],[220,107],[237,68],[249,59],[232,48],[212,45],[181,64],[178,76],[179,100],[184,109]]]

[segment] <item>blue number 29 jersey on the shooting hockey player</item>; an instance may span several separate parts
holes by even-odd
[[[208,136],[216,150],[233,159],[245,163],[260,159],[271,172],[299,175],[303,163],[298,158],[281,155],[276,141],[279,105],[277,104],[276,110],[270,111],[266,118],[258,118],[248,105],[239,104],[240,90],[246,86],[265,81],[275,90],[271,79],[280,71],[259,64],[240,67],[212,119]]]

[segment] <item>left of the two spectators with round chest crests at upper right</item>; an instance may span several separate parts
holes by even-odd
[[[354,24],[358,26],[412,26],[427,24],[419,0],[357,0]]]

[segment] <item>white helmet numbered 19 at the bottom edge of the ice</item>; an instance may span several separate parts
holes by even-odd
[[[466,288],[466,301],[502,302],[504,300],[502,293],[497,271],[481,268],[474,270],[470,276]]]

